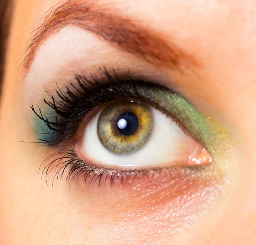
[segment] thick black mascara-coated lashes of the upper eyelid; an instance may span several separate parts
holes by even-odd
[[[75,78],[78,86],[73,83],[70,84],[70,88],[65,86],[65,93],[57,86],[56,94],[59,100],[56,100],[54,96],[47,94],[50,100],[44,99],[44,103],[52,108],[58,115],[54,120],[49,120],[48,117],[44,117],[41,112],[41,108],[38,107],[38,112],[35,107],[31,105],[32,111],[36,116],[42,120],[47,128],[52,132],[47,132],[43,129],[43,133],[39,134],[53,134],[52,140],[38,139],[40,142],[47,143],[48,145],[60,145],[61,143],[70,140],[77,131],[80,123],[84,117],[96,106],[110,102],[111,100],[143,100],[143,97],[137,92],[137,85],[145,86],[159,86],[160,85],[146,82],[145,80],[138,80],[132,77],[128,71],[125,74],[125,78],[121,78],[115,70],[113,74],[107,70],[107,68],[99,68],[103,73],[104,79],[107,83],[102,83],[96,76],[92,76],[92,80],[87,79],[83,75],[76,74]],[[124,77],[124,76],[122,76]],[[73,91],[71,91],[73,90]],[[152,105],[152,101],[150,102]],[[75,120],[73,120],[75,119]],[[178,123],[179,124],[179,123]]]

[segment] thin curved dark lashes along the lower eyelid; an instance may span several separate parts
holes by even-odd
[[[54,160],[51,160],[52,157]],[[48,185],[47,178],[50,172],[54,171],[55,175],[52,179],[52,187],[54,182],[61,180],[66,170],[68,171],[66,180],[69,182],[69,185],[72,185],[76,179],[79,179],[79,177],[83,176],[84,182],[89,184],[89,187],[90,185],[98,185],[100,187],[102,184],[106,185],[107,182],[110,184],[110,186],[116,183],[124,187],[127,183],[131,184],[135,178],[137,179],[138,177],[144,177],[145,175],[147,179],[154,179],[157,175],[160,174],[168,174],[169,178],[180,178],[181,176],[184,178],[195,173],[203,173],[205,170],[205,168],[200,166],[172,166],[165,168],[143,168],[140,170],[113,170],[107,168],[99,168],[81,160],[73,148],[65,148],[50,155],[46,160],[44,160],[40,168],[45,163],[47,164],[43,168],[42,179],[45,175],[45,181]]]

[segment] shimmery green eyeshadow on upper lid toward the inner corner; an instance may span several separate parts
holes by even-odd
[[[166,114],[177,119],[209,154],[215,156],[218,151],[227,151],[225,140],[230,137],[227,129],[212,117],[203,116],[180,94],[165,87],[140,87],[138,91],[143,97],[154,101]]]

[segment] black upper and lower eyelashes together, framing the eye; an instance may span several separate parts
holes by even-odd
[[[84,117],[86,117],[90,111],[97,106],[109,103],[113,100],[138,100],[141,103],[147,103],[150,106],[160,109],[169,117],[171,116],[167,111],[164,110],[164,108],[159,108],[157,103],[152,100],[145,100],[145,98],[140,96],[140,94],[137,92],[138,85],[144,87],[157,87],[158,89],[163,88],[162,86],[142,79],[136,79],[129,71],[126,72],[126,74],[122,74],[122,77],[124,78],[119,76],[115,70],[113,70],[113,74],[111,74],[105,67],[99,68],[99,71],[101,71],[104,75],[103,79],[92,76],[92,80],[89,80],[83,75],[76,74],[75,78],[78,86],[71,83],[70,88],[65,86],[65,92],[62,92],[57,86],[58,89],[56,89],[55,92],[59,98],[58,100],[56,100],[54,96],[50,95],[46,91],[51,100],[44,99],[44,103],[48,105],[49,108],[53,109],[55,114],[58,115],[58,117],[55,117],[55,120],[51,121],[48,119],[48,117],[44,117],[40,107],[38,107],[38,113],[35,110],[35,107],[31,105],[32,111],[36,114],[36,116],[42,120],[45,125],[47,125],[47,128],[50,131],[52,131],[48,132],[46,129],[42,128],[44,132],[38,134],[53,134],[52,140],[39,138],[39,142],[52,147],[64,145],[68,141],[70,142],[76,135],[79,125],[81,125],[81,122],[83,122]],[[102,83],[102,80],[104,80],[104,83]],[[172,117],[172,120],[175,120],[175,118]],[[185,127],[183,127],[179,121],[175,121],[177,125],[179,125],[183,131],[186,132]],[[54,159],[51,160],[52,158]],[[110,180],[111,185],[113,182],[118,181],[121,183],[121,185],[123,185],[124,182],[128,181],[131,176],[140,177],[143,174],[151,173],[151,177],[154,177],[154,174],[160,174],[164,171],[172,171],[172,174],[174,174],[174,172],[176,172],[176,174],[181,174],[180,171],[192,173],[194,171],[200,171],[201,169],[200,167],[172,167],[172,170],[169,168],[145,168],[141,170],[125,171],[101,169],[90,165],[90,163],[85,162],[84,160],[81,160],[76,154],[74,146],[71,146],[70,148],[63,147],[62,150],[59,150],[47,157],[42,165],[45,162],[48,163],[42,171],[42,178],[45,174],[46,182],[49,172],[54,169],[57,170],[52,180],[52,185],[55,179],[58,181],[59,178],[61,179],[61,177],[63,177],[64,171],[68,166],[71,166],[67,174],[67,180],[70,184],[73,183],[73,181],[79,176],[84,175],[85,182],[88,183],[90,177],[90,184],[94,184],[98,180],[99,185],[101,185],[102,182],[106,183],[108,179]]]

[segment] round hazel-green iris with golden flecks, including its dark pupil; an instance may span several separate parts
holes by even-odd
[[[133,101],[107,105],[98,120],[98,137],[105,148],[118,154],[139,150],[153,128],[151,108]]]

